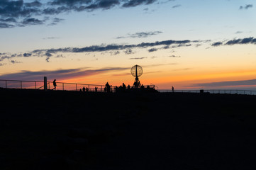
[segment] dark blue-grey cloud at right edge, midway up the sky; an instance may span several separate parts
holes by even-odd
[[[256,45],[256,38],[238,38],[233,40],[228,40],[224,42],[214,42],[211,46],[219,46],[219,45],[245,45],[245,44],[252,44]]]

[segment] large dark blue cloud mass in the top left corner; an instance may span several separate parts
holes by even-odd
[[[157,0],[48,0],[31,1],[1,0],[0,1],[0,28],[12,28],[15,26],[28,26],[47,24],[38,17],[57,15],[72,11],[94,11],[98,9],[108,10],[113,7],[132,8],[135,6],[153,4]],[[8,21],[12,18],[12,21]],[[14,22],[15,21],[15,22]],[[14,25],[8,25],[14,22]],[[60,20],[54,19],[49,26],[54,26]]]

